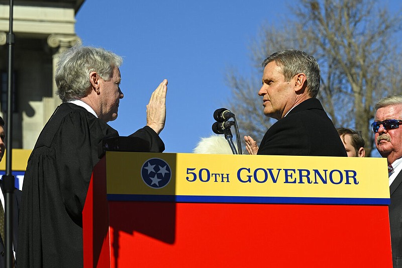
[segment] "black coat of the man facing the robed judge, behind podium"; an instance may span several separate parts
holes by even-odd
[[[309,99],[268,129],[258,154],[346,156],[346,151],[320,101]]]

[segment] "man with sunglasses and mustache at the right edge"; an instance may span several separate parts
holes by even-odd
[[[374,108],[375,146],[388,162],[392,262],[393,267],[402,267],[402,96],[386,97]]]

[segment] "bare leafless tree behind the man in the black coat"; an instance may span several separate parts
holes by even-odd
[[[319,62],[318,98],[335,126],[361,131],[366,155],[370,155],[374,104],[387,95],[402,94],[402,53],[396,38],[402,30],[401,13],[391,15],[374,0],[301,0],[293,14],[296,19],[287,21],[283,29],[262,27],[252,41],[250,50],[259,77],[245,78],[228,71],[235,96],[230,105],[239,115],[242,132],[261,139],[271,124],[257,96],[260,63],[275,51],[296,48]]]

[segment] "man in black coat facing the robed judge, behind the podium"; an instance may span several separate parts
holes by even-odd
[[[277,119],[260,146],[245,136],[249,154],[347,156],[331,119],[319,100],[320,68],[317,61],[299,50],[282,50],[262,65],[264,114]]]

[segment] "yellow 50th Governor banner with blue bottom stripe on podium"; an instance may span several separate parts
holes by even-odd
[[[106,152],[109,200],[389,204],[385,158]]]

